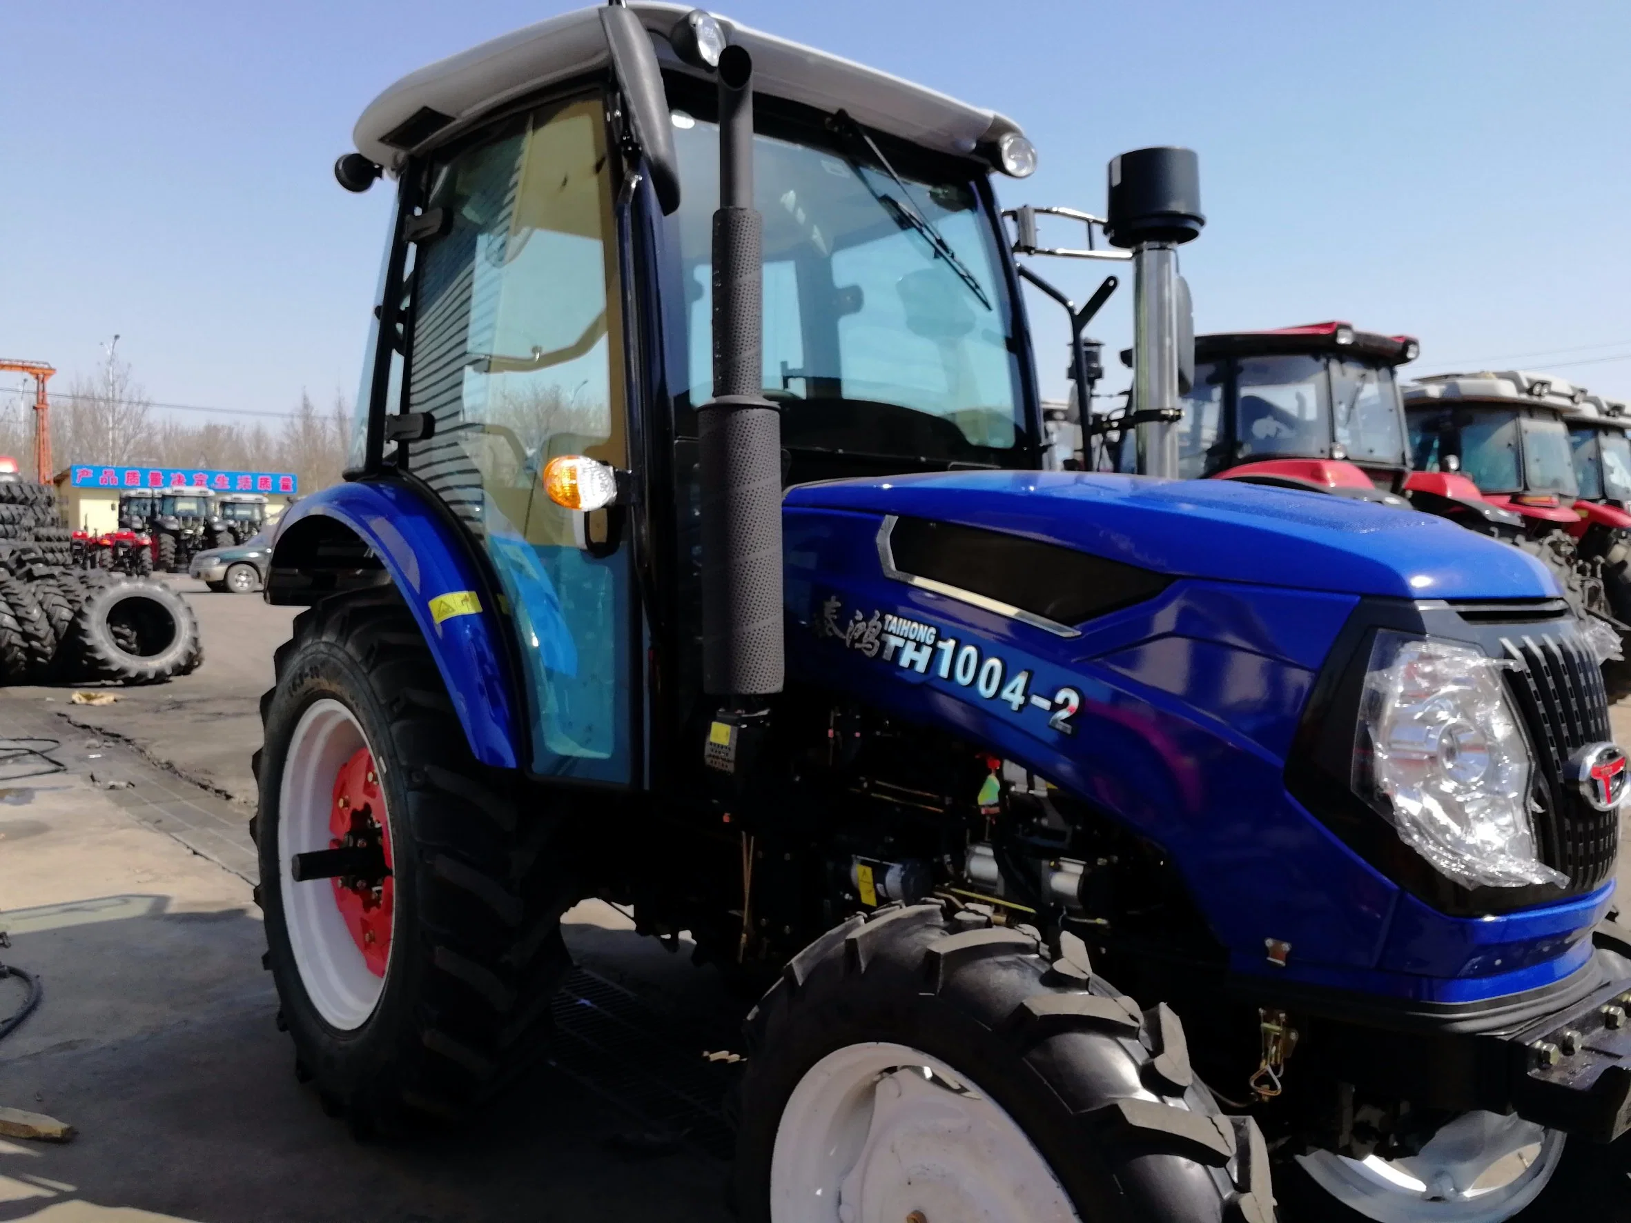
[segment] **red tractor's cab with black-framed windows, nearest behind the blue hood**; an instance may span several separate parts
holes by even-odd
[[[1409,460],[1393,370],[1416,352],[1336,321],[1196,336],[1179,475],[1396,501]],[[1134,470],[1125,440],[1117,466]]]

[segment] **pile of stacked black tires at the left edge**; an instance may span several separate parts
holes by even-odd
[[[70,567],[54,489],[0,483],[0,683],[158,683],[202,660],[181,595]]]

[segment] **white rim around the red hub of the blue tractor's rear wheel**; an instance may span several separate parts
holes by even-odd
[[[334,902],[333,882],[310,879],[297,884],[289,877],[289,861],[297,853],[329,846],[334,778],[341,765],[364,747],[369,740],[351,709],[328,698],[313,701],[300,714],[289,740],[277,791],[277,881],[289,946],[316,1013],[326,1024],[346,1032],[362,1027],[373,1014],[385,991],[385,977],[369,972]]]

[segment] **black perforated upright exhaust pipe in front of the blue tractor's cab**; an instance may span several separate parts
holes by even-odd
[[[763,220],[754,210],[754,60],[719,55],[719,210],[713,219],[714,398],[696,413],[703,691],[763,709],[785,678],[781,416],[763,398]],[[734,753],[732,753],[734,755]],[[734,770],[727,770],[734,771]]]

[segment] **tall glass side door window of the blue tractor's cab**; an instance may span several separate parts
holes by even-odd
[[[409,466],[486,548],[527,667],[533,768],[626,781],[630,572],[605,512],[555,506],[556,455],[628,466],[617,248],[599,98],[429,166]]]

